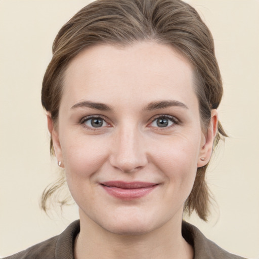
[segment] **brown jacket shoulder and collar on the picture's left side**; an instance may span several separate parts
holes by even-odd
[[[73,244],[79,231],[79,221],[75,221],[71,223],[60,235],[3,259],[72,259]]]

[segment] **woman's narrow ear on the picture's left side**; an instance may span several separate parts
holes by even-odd
[[[62,167],[63,156],[62,156],[62,149],[61,149],[60,142],[59,142],[59,133],[58,133],[57,126],[54,125],[54,121],[51,117],[50,112],[47,112],[47,120],[48,120],[48,129],[51,134],[52,143],[53,143],[53,147],[54,147],[54,152],[55,152],[57,160],[61,161],[61,167]]]

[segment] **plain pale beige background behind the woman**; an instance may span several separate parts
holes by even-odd
[[[59,234],[78,218],[40,211],[58,175],[40,105],[42,76],[59,28],[89,1],[0,0],[0,255]],[[215,39],[225,95],[220,119],[231,136],[207,178],[217,206],[208,223],[189,221],[223,248],[259,258],[259,1],[188,1]],[[58,210],[57,210],[58,211]]]

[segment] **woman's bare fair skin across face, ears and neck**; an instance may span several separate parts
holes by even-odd
[[[173,105],[147,109],[163,101]],[[92,126],[93,115],[101,127]],[[168,126],[157,124],[159,118]],[[181,234],[183,207],[197,167],[210,158],[217,121],[212,110],[202,132],[193,69],[169,46],[137,42],[79,53],[65,73],[55,126],[48,114],[57,159],[79,206],[75,257],[193,258]],[[104,190],[105,181],[157,186],[144,197],[121,200]]]

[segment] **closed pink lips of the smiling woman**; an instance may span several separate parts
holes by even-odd
[[[132,200],[146,196],[152,192],[158,184],[146,183],[146,182],[122,182],[122,181],[110,181],[101,183],[101,186],[111,196],[123,199]]]

